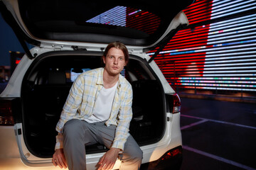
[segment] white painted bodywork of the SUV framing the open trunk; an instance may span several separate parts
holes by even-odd
[[[36,47],[33,47],[29,54],[22,57],[21,62],[19,62],[16,67],[9,84],[6,89],[0,94],[0,98],[21,98],[21,86],[23,82],[23,77],[25,76],[31,64],[36,60],[37,57],[48,55],[53,55],[54,52],[58,51],[68,51],[73,52],[75,48],[84,49],[90,52],[102,52],[107,43],[105,42],[78,42],[69,40],[46,40],[43,38],[37,38],[31,33],[31,31],[26,27],[21,14],[19,13],[18,1],[16,0],[1,0],[6,5],[6,8],[14,16],[15,21],[18,23],[19,28],[14,28],[14,31],[20,29],[28,39],[33,40],[33,42],[38,42]],[[1,2],[0,1],[0,2]],[[191,1],[192,2],[192,1]],[[161,44],[161,42],[166,38],[171,38],[171,31],[176,31],[180,26],[188,25],[188,20],[185,14],[177,12],[175,16],[171,16],[173,20],[168,24],[165,31],[162,31],[162,35],[159,35],[159,39],[155,39],[148,45],[127,45],[130,55],[137,56],[142,60],[149,61],[151,57],[144,53],[145,50],[149,50],[151,47],[156,47],[156,45]],[[33,44],[35,45],[35,44]],[[26,52],[28,53],[28,52]],[[29,56],[32,56],[29,57]],[[145,66],[146,67],[146,66]],[[161,86],[163,87],[164,94],[174,94],[174,89],[171,88],[168,81],[166,81],[161,70],[157,66],[156,62],[150,62],[149,67],[151,67],[152,72],[156,74],[156,77],[161,81]],[[152,101],[154,102],[154,101]],[[149,103],[151,104],[151,103]],[[142,164],[148,162],[154,162],[166,153],[169,149],[178,147],[182,144],[181,141],[181,130],[179,125],[180,113],[166,113],[166,125],[164,135],[158,142],[151,145],[142,146],[143,160]],[[0,134],[3,137],[0,145],[0,164],[1,166],[6,166],[6,169],[16,169],[17,167],[22,167],[23,169],[31,169],[31,166],[36,169],[53,169],[53,164],[50,158],[40,158],[33,155],[26,146],[25,140],[23,139],[23,123],[16,123],[14,126],[0,126]],[[10,150],[11,148],[11,150]],[[87,154],[87,168],[95,169],[95,165],[100,160],[104,153],[97,154]],[[120,162],[117,161],[114,168],[119,167]],[[56,167],[55,169],[59,169]]]

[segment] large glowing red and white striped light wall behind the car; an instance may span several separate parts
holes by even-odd
[[[183,10],[190,26],[154,59],[169,84],[179,91],[256,91],[255,9],[255,0],[197,0]]]

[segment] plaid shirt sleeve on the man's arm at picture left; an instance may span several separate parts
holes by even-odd
[[[81,74],[80,74],[81,75]],[[63,106],[63,111],[60,115],[60,120],[56,125],[57,132],[63,132],[63,126],[65,123],[74,118],[75,114],[82,103],[82,94],[84,90],[84,82],[81,76],[79,76],[73,86],[70,89],[70,93],[68,94],[68,98],[65,101],[65,105]]]

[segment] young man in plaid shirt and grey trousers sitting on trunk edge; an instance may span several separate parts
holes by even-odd
[[[120,72],[128,63],[127,47],[112,42],[102,56],[104,68],[80,74],[70,89],[56,126],[58,136],[53,164],[60,168],[86,169],[85,145],[100,143],[109,150],[98,169],[139,169],[142,150],[129,135],[132,119],[132,86]]]

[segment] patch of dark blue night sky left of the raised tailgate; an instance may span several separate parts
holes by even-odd
[[[10,65],[9,51],[24,52],[14,31],[0,14],[0,66]]]

